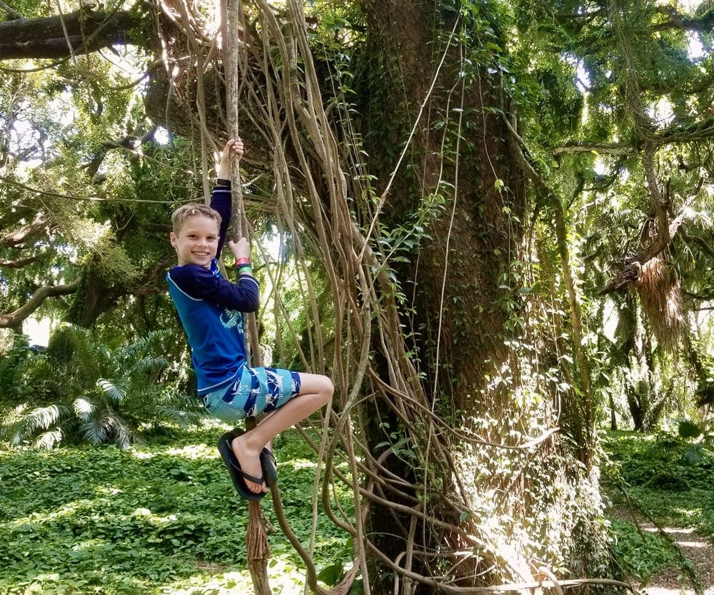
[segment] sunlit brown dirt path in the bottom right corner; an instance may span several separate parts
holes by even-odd
[[[656,532],[651,524],[643,524],[645,531]],[[692,561],[704,595],[714,595],[714,546],[693,529],[665,527],[667,533]],[[648,586],[642,589],[648,595],[694,595],[694,587],[688,576],[680,569],[655,573]]]

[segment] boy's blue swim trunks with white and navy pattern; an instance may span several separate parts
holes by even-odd
[[[203,395],[201,400],[213,417],[235,422],[243,417],[256,417],[274,411],[299,392],[298,372],[275,367],[243,366],[235,382]]]

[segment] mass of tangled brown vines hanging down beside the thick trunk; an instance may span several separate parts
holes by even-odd
[[[558,581],[543,564],[530,564],[511,546],[512,538],[503,527],[494,526],[488,513],[474,510],[475,489],[476,493],[483,490],[479,497],[484,501],[493,490],[493,494],[503,492],[503,496],[494,497],[500,504],[520,506],[516,504],[518,497],[503,483],[511,480],[501,477],[495,485],[475,488],[476,478],[469,467],[478,457],[490,458],[482,453],[483,449],[507,452],[512,463],[524,469],[532,464],[537,449],[543,450],[544,459],[557,459],[553,419],[545,416],[542,424],[524,422],[523,427],[535,428],[540,434],[504,442],[491,433],[490,422],[484,422],[483,427],[457,427],[437,414],[436,394],[428,394],[423,388],[398,315],[403,296],[393,281],[390,260],[396,244],[385,251],[381,248],[388,243],[380,242],[383,230],[378,217],[391,182],[376,199],[349,110],[338,109],[337,117],[326,111],[303,4],[288,0],[284,13],[266,0],[245,2],[237,14],[233,12],[235,6],[229,2],[224,7],[230,26],[223,27],[221,43],[216,44],[216,36],[201,33],[218,31],[216,24],[202,22],[204,17],[189,10],[182,0],[161,3],[160,18],[169,19],[169,27],[175,33],[169,40],[164,26],[164,68],[175,89],[164,113],[166,121],[200,142],[204,158],[219,137],[240,133],[248,148],[243,162],[260,180],[259,188],[246,185],[243,194],[249,190],[255,200],[261,188],[270,188],[270,194],[261,196],[260,208],[263,213],[273,213],[278,228],[290,234],[306,312],[311,317],[310,349],[302,354],[303,364],[316,372],[328,371],[336,386],[336,402],[331,411],[325,419],[313,420],[312,429],[320,441],[314,442],[314,432],[303,432],[321,465],[321,489],[316,490],[315,498],[319,497],[331,521],[353,536],[355,544],[353,570],[330,592],[346,592],[359,573],[363,589],[369,594],[370,558],[393,571],[395,592],[405,595],[418,584],[455,594],[491,590],[467,588],[461,586],[463,581],[520,581],[495,586],[495,590],[545,584],[559,588],[565,582]],[[453,22],[454,39],[459,26],[457,18]],[[224,43],[226,39],[228,44]],[[438,73],[434,76],[436,80]],[[332,80],[331,84],[338,94],[342,92],[338,81]],[[193,88],[197,91],[188,91]],[[228,88],[225,111],[217,91],[221,88]],[[458,90],[453,93],[453,108],[463,111],[463,93]],[[420,112],[414,131],[421,117]],[[222,122],[222,129],[211,130],[211,121]],[[401,157],[395,161],[395,172],[408,156],[409,143],[408,138]],[[455,154],[460,152],[457,147]],[[203,172],[206,176],[206,168]],[[240,181],[235,180],[238,185]],[[448,187],[451,181],[445,178],[443,185]],[[457,190],[453,187],[455,195]],[[366,201],[371,220],[362,225],[358,225],[353,213],[353,197],[373,200],[371,207]],[[456,198],[444,200],[456,205]],[[250,232],[250,210],[241,209],[241,218],[241,230]],[[254,234],[251,239],[258,242]],[[259,245],[257,249],[264,252]],[[322,274],[333,297],[333,336],[323,331],[318,295],[311,281],[308,267],[314,255],[319,255]],[[273,287],[278,285],[279,269],[268,267],[266,274]],[[284,312],[279,293],[272,297],[274,310]],[[376,367],[373,360],[376,346],[384,367]],[[398,420],[403,432],[398,442],[380,453],[373,452],[366,439],[365,400],[388,407],[389,415]],[[461,445],[461,457],[456,456],[456,445]],[[414,475],[418,479],[411,482],[394,473],[386,460],[395,456],[408,457],[411,467],[418,470]],[[331,486],[336,483],[350,487],[353,513],[347,514],[333,501]],[[326,592],[317,583],[309,548],[304,549],[296,539],[283,514],[277,487],[273,488],[273,505],[281,529],[306,565],[308,586],[313,591]],[[314,500],[315,519],[317,505]],[[396,559],[387,556],[368,532],[372,507],[391,510],[401,524],[401,532],[408,536],[403,553]],[[259,522],[257,505],[251,508],[251,517]],[[435,543],[443,546],[434,549]],[[249,548],[256,550],[251,559],[258,561],[251,565],[256,591],[268,593],[265,537],[260,536]]]

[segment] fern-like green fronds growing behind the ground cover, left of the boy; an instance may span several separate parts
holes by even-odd
[[[200,419],[198,402],[181,390],[184,375],[162,354],[175,333],[154,331],[130,345],[64,325],[46,350],[22,337],[0,362],[0,442],[44,447],[82,440],[126,448],[142,427]],[[168,377],[168,380],[167,380]]]

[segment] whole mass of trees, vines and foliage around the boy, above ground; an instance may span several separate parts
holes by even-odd
[[[166,238],[239,133],[253,355],[333,377],[301,435],[347,576],[405,594],[618,578],[598,432],[710,433],[710,2],[0,14],[4,447],[205,423]]]

